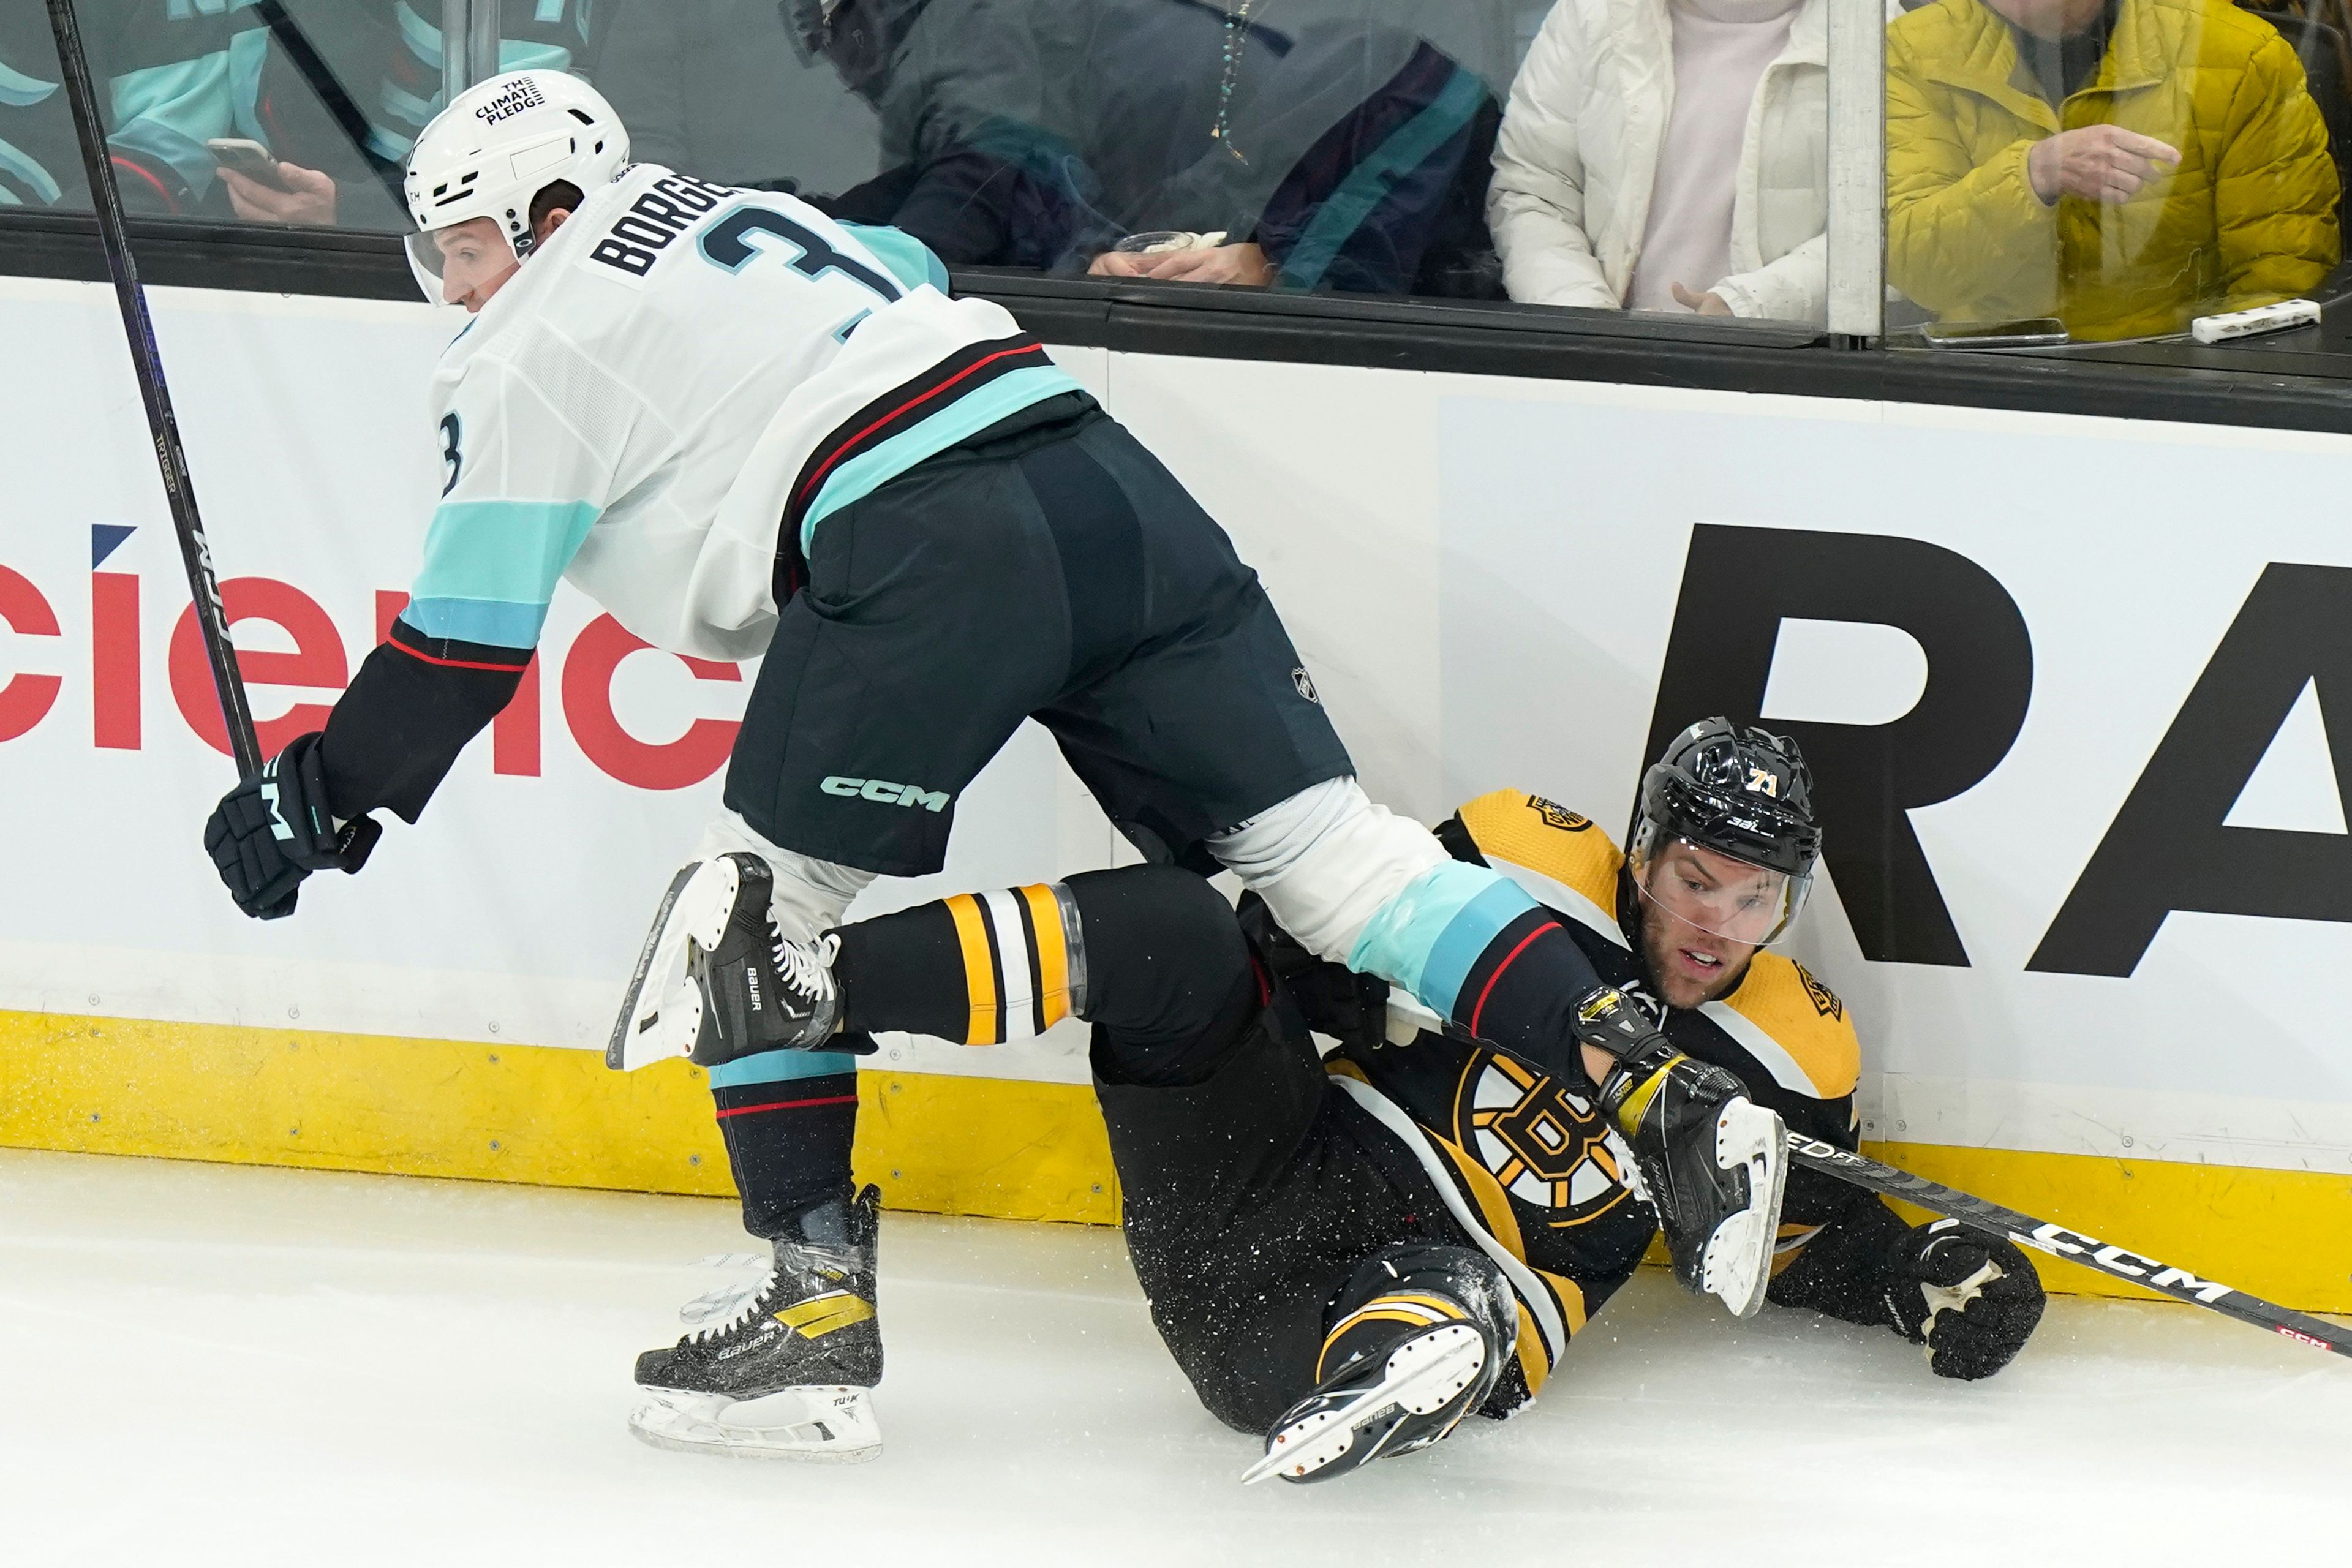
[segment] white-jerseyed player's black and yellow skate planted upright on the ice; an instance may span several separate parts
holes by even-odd
[[[882,1382],[875,1234],[882,1194],[837,1197],[776,1239],[734,1307],[637,1356],[628,1429],[656,1448],[851,1465],[882,1453],[866,1396]]]

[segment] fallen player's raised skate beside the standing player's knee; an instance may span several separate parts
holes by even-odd
[[[774,872],[724,853],[670,877],[644,933],[604,1065],[635,1072],[675,1056],[703,1067],[757,1051],[833,1048],[835,940],[776,931]]]

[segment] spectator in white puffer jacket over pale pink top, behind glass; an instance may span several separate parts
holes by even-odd
[[[1559,0],[1486,219],[1529,306],[1828,317],[1825,0]]]

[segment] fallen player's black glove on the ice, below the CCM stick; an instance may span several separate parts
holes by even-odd
[[[2042,1321],[2042,1276],[2016,1246],[1959,1220],[1917,1225],[1886,1258],[1886,1316],[1926,1345],[1938,1378],[1990,1378]]]

